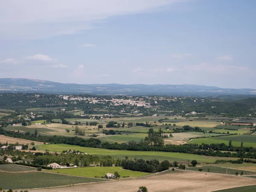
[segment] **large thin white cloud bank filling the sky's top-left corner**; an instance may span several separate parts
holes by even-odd
[[[45,38],[92,29],[94,23],[116,15],[155,11],[189,0],[3,0],[0,37]]]

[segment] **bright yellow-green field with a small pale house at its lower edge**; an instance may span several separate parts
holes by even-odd
[[[47,172],[61,173],[65,175],[75,175],[75,176],[83,176],[83,177],[105,177],[106,173],[114,173],[118,172],[121,177],[129,176],[129,177],[141,177],[145,175],[150,175],[150,173],[144,172],[134,172],[130,170],[121,169],[122,167],[81,167],[76,169],[53,169],[47,170]]]

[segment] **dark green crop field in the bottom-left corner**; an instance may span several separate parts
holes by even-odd
[[[3,189],[31,189],[106,181],[97,178],[75,177],[47,172],[1,172]],[[30,190],[29,190],[30,191]]]

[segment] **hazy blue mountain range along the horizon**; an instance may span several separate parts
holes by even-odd
[[[0,79],[0,92],[170,96],[256,95],[255,89],[229,89],[190,84],[65,84],[38,79],[13,78]]]

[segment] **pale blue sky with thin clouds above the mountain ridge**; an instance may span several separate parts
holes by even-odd
[[[255,0],[0,4],[0,78],[256,89]]]

